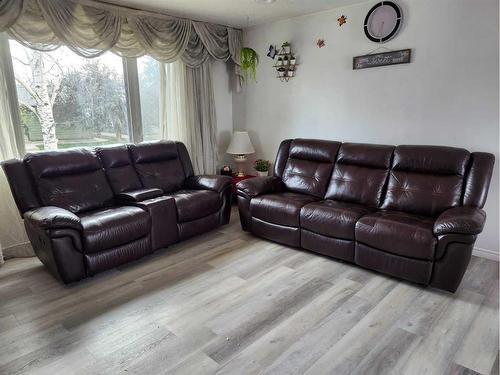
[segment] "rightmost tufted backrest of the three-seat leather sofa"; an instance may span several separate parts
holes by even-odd
[[[461,204],[467,150],[397,146],[382,208],[437,216]]]

